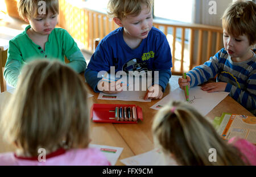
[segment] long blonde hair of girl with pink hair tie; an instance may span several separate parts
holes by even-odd
[[[179,165],[245,165],[240,151],[226,144],[213,126],[192,106],[171,102],[160,109],[152,125],[154,141]],[[215,148],[217,162],[209,161]],[[238,155],[239,154],[239,155]]]

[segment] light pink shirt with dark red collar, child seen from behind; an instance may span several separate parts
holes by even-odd
[[[20,166],[55,166],[55,165],[110,165],[108,159],[100,150],[94,148],[71,149],[65,151],[59,149],[46,155],[46,162],[39,162],[38,157],[23,158],[12,153],[0,154],[0,165],[20,165]]]

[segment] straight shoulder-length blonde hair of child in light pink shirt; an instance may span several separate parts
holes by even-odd
[[[35,60],[22,69],[0,125],[9,143],[36,157],[39,148],[87,147],[88,115],[80,76],[59,61]]]

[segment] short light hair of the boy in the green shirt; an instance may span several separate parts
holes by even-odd
[[[39,3],[39,0],[20,0],[18,2],[18,12],[19,16],[23,19],[31,19],[35,18],[39,14],[39,10],[41,10],[43,5]],[[44,0],[46,5],[46,14],[59,14],[59,0]]]

